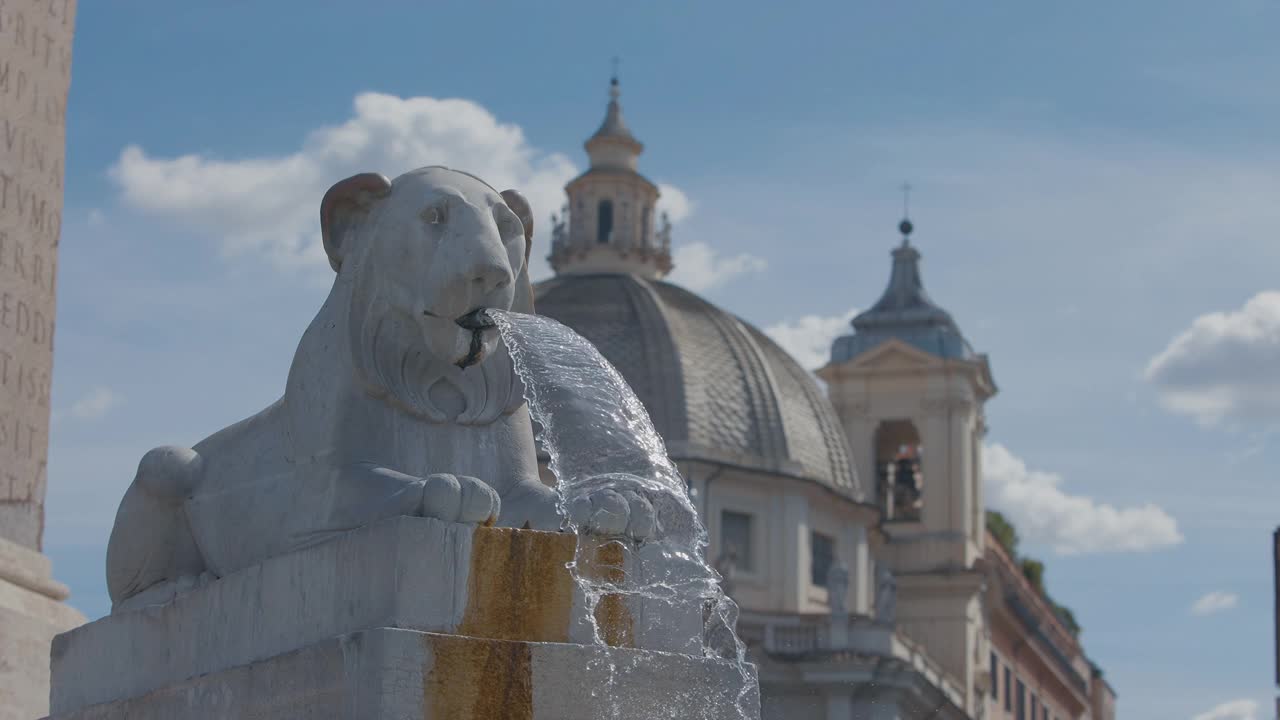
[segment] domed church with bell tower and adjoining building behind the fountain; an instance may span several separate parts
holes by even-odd
[[[614,79],[590,167],[552,218],[536,310],[649,410],[741,609],[764,716],[1111,720],[1110,688],[988,538],[996,384],[924,292],[910,223],[883,296],[818,370],[823,391],[763,332],[663,279],[671,225],[620,95]],[[1020,714],[1004,714],[1006,669]]]

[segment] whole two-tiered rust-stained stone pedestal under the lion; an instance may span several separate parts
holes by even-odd
[[[268,560],[59,635],[52,717],[758,717],[754,669],[692,655],[700,607],[607,597],[589,644],[576,539],[397,518]]]

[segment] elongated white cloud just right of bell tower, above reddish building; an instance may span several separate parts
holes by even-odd
[[[1027,468],[998,443],[983,448],[983,479],[987,503],[1006,514],[1023,539],[1060,555],[1142,552],[1183,542],[1178,521],[1161,507],[1116,509],[1069,495],[1060,475]]]

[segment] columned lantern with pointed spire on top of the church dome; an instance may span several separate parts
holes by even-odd
[[[636,170],[644,145],[622,119],[621,94],[614,74],[604,122],[586,141],[590,168],[564,186],[568,205],[552,215],[548,261],[557,274],[671,272],[671,223],[655,218],[658,186]]]

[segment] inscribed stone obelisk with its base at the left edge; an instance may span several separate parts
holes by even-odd
[[[41,553],[76,0],[0,0],[0,720],[49,711],[54,634],[83,623]]]

